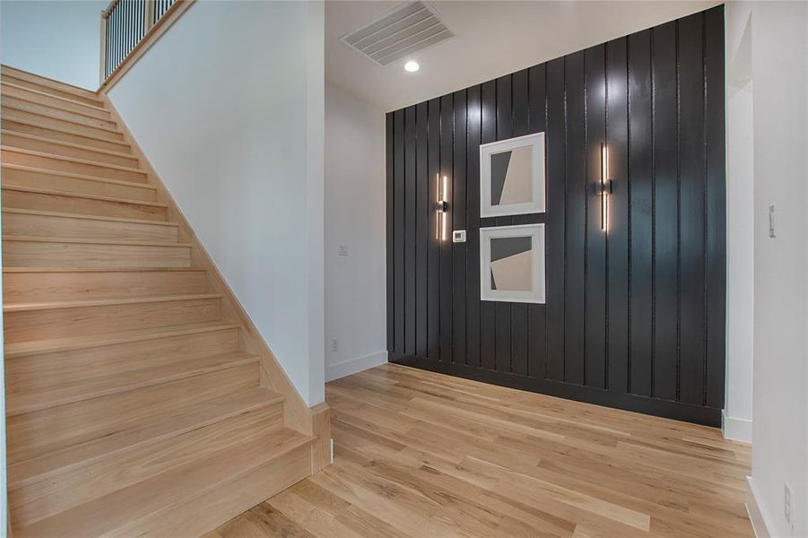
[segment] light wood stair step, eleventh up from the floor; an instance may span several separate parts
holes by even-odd
[[[141,169],[132,169],[114,164],[107,164],[97,161],[87,161],[75,159],[74,157],[64,157],[52,153],[35,152],[0,146],[0,161],[20,166],[30,166],[32,168],[57,170],[71,174],[81,174],[103,179],[117,179],[118,181],[132,181],[134,183],[146,183],[149,175]]]

